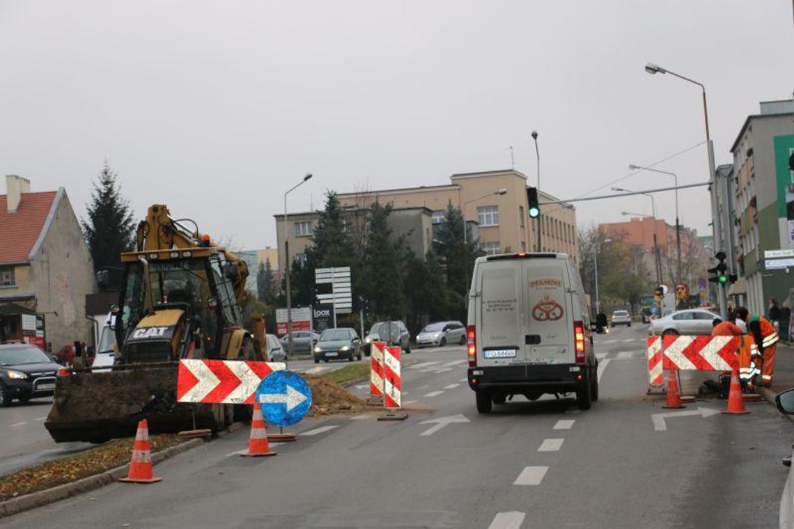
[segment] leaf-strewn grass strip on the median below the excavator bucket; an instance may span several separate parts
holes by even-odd
[[[181,442],[175,434],[152,435],[152,452],[173,447]],[[106,472],[129,463],[134,438],[115,439],[99,447],[84,450],[56,461],[19,470],[0,479],[0,501],[52,489],[83,477]]]

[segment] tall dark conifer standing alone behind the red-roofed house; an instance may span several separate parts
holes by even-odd
[[[94,182],[83,233],[94,270],[121,266],[121,252],[133,249],[135,225],[129,202],[121,196],[118,174],[105,162]]]

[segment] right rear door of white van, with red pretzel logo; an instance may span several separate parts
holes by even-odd
[[[538,257],[522,263],[527,363],[575,363],[572,285],[565,259]]]

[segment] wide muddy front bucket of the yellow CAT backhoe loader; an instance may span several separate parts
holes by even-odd
[[[176,362],[162,362],[60,377],[44,427],[56,443],[103,443],[134,436],[141,419],[148,420],[152,433],[190,430],[194,424],[218,431],[230,422],[218,405],[177,403],[176,374]]]

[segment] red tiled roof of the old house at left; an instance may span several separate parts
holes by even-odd
[[[0,263],[29,259],[55,196],[56,191],[23,193],[16,213],[8,213],[8,195],[0,195]]]

